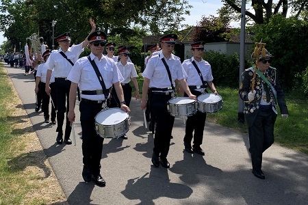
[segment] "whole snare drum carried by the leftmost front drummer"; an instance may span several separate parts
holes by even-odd
[[[129,115],[120,108],[100,111],[95,116],[97,134],[103,138],[118,138],[125,135],[131,127]]]

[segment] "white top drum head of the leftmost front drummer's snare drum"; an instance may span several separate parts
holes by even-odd
[[[99,124],[114,125],[123,122],[128,118],[128,114],[120,108],[110,108],[105,111],[100,111],[95,120]]]

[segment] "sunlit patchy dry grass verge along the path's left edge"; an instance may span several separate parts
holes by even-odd
[[[65,204],[38,137],[0,64],[0,204]]]

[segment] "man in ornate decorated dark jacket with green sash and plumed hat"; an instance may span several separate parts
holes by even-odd
[[[279,84],[277,69],[270,66],[273,56],[265,48],[263,51],[265,52],[260,51],[256,54],[259,60],[256,61],[255,68],[247,68],[242,73],[239,90],[240,98],[245,101],[244,115],[248,126],[253,175],[260,179],[265,179],[261,170],[263,152],[274,143],[277,103],[281,116],[288,116],[285,94]],[[254,54],[255,52],[253,56]]]

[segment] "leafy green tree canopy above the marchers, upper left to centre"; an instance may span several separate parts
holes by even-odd
[[[134,25],[151,33],[164,33],[179,29],[182,15],[189,14],[188,8],[186,0],[3,0],[0,30],[10,41],[16,36],[25,40],[39,31],[50,45],[51,21],[57,20],[55,36],[71,31],[72,42],[79,43],[90,31],[89,18],[94,18],[97,29],[121,37]],[[21,31],[16,33],[16,27]]]

